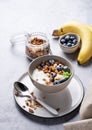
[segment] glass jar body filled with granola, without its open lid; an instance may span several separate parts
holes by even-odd
[[[27,37],[25,52],[28,58],[34,59],[50,53],[50,44],[44,33],[32,33]]]

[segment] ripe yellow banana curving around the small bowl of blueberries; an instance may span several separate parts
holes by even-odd
[[[76,33],[81,38],[81,49],[78,55],[78,63],[83,64],[92,57],[92,28],[85,24],[71,22],[58,29],[58,34]]]

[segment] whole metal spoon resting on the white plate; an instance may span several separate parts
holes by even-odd
[[[21,97],[29,97],[31,100],[35,100],[38,103],[40,103],[46,110],[48,110],[50,113],[54,114],[54,115],[58,115],[59,113],[52,108],[51,106],[47,105],[46,103],[44,103],[43,101],[35,98],[34,96],[30,95],[29,89],[27,86],[25,86],[23,83],[21,82],[15,82],[14,83],[14,87],[15,90],[18,92],[18,96]]]

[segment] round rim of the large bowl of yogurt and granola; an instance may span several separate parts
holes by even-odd
[[[67,59],[64,58],[64,57],[57,56],[57,55],[44,55],[44,56],[40,56],[40,57],[34,59],[34,60],[29,64],[29,67],[28,67],[28,74],[29,74],[30,78],[31,78],[34,82],[36,82],[37,84],[43,85],[43,87],[57,87],[58,85],[60,85],[60,84],[56,84],[56,85],[44,85],[44,84],[41,84],[41,83],[35,81],[35,80],[33,79],[32,75],[30,74],[30,66],[31,66],[31,64],[33,64],[34,62],[36,62],[37,60],[39,60],[39,59],[41,59],[41,58],[43,58],[43,57],[48,57],[48,56],[49,56],[49,57],[52,57],[52,56],[53,56],[53,57],[62,58],[62,59],[65,60],[67,63],[69,63],[70,66],[71,66],[71,68],[72,68],[71,76],[70,76],[66,81],[64,81],[64,82],[62,82],[62,83],[60,83],[60,84],[65,84],[65,82],[67,82],[68,80],[71,80],[72,77],[73,77],[73,75],[74,75],[74,67],[72,66],[72,64],[71,64],[71,62],[70,62],[69,60],[67,60]]]

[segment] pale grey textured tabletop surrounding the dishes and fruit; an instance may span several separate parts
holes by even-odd
[[[92,77],[92,59],[79,66],[77,53],[65,55],[57,42],[51,39],[53,29],[72,20],[92,25],[91,0],[0,0],[0,130],[63,130],[62,123],[39,124],[16,108],[13,82],[27,71],[29,61],[24,54],[24,45],[12,48],[9,39],[14,33],[46,33],[52,52],[72,61],[75,73],[87,87]],[[70,121],[75,120],[79,120],[78,115]]]

